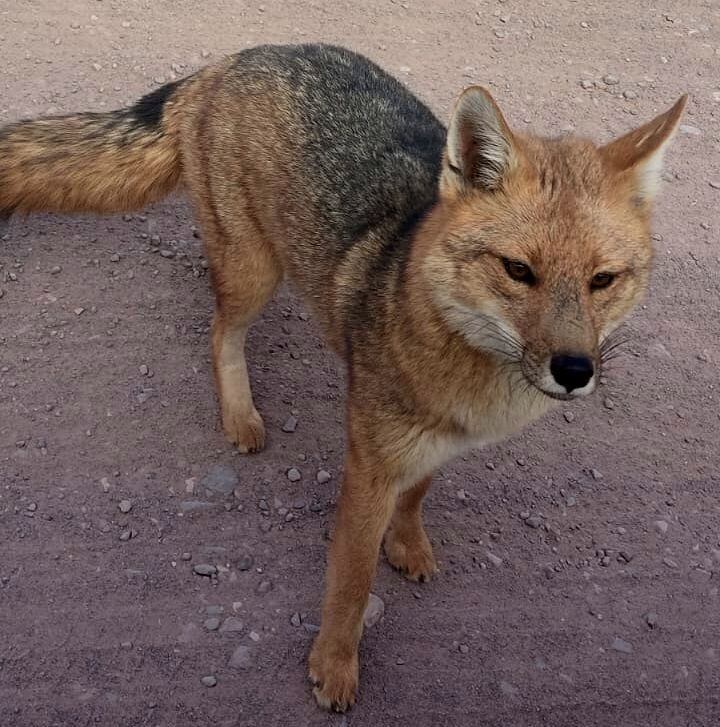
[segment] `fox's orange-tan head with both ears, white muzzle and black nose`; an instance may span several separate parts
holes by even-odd
[[[647,286],[651,205],[686,98],[596,146],[514,133],[485,89],[467,89],[423,258],[445,323],[550,397],[591,393]]]

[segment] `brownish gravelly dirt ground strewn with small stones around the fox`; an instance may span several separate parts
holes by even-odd
[[[347,716],[318,711],[305,680],[343,451],[343,372],[313,321],[283,290],[254,328],[269,446],[241,457],[218,426],[187,203],[13,220],[2,725],[720,724],[720,7],[647,5],[0,5],[0,123],[110,109],[224,53],[310,40],[366,53],[442,118],[479,82],[519,127],[607,139],[691,95],[625,355],[591,400],[438,475],[442,573],[418,586],[381,562],[385,614]]]

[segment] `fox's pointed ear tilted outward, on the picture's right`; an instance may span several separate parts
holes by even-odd
[[[652,202],[660,186],[663,155],[686,103],[687,94],[665,113],[600,148],[617,171],[634,173],[635,197],[643,205]]]

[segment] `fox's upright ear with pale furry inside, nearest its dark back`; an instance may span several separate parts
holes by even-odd
[[[464,191],[497,189],[516,162],[512,131],[489,91],[465,89],[450,119],[443,181]]]

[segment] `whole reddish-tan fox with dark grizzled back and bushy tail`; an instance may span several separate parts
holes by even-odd
[[[605,144],[511,129],[466,88],[444,125],[374,62],[325,44],[243,50],[133,105],[0,129],[0,217],[116,213],[176,188],[215,295],[222,427],[266,439],[249,326],[288,279],[347,372],[346,452],[320,631],[317,703],[357,699],[381,548],[438,572],[433,473],[597,388],[645,295],[651,212],[687,95]]]

